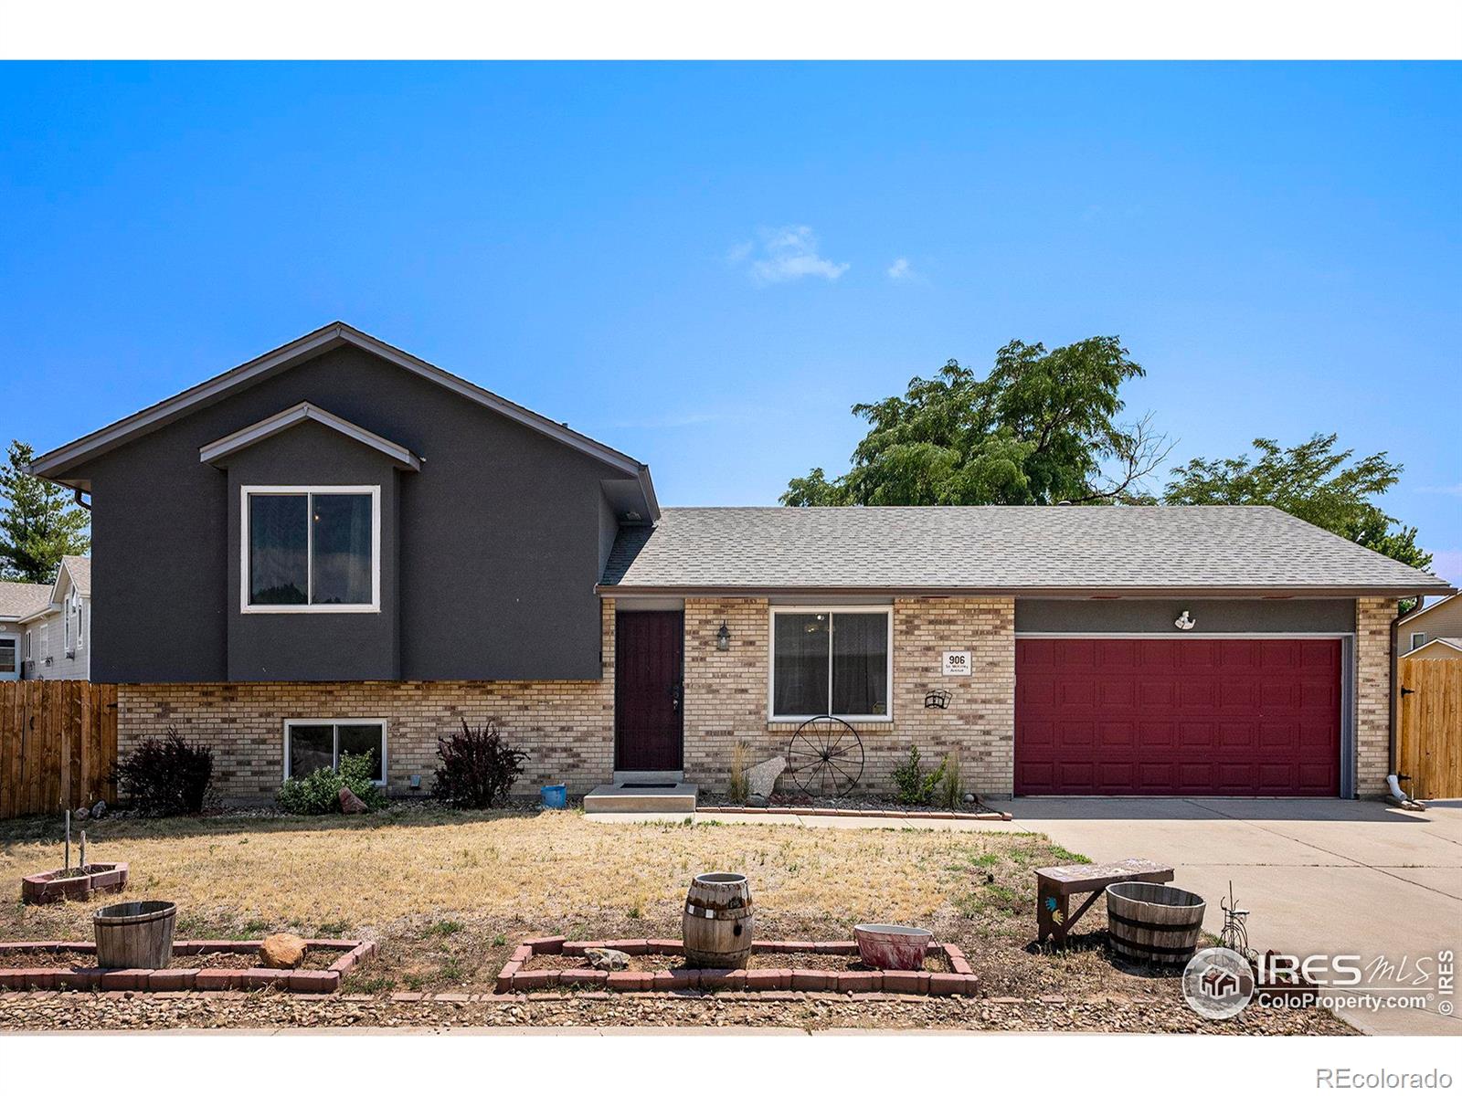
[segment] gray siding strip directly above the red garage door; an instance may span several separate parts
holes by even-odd
[[[1173,621],[1184,609],[1196,621],[1178,633]],[[1263,633],[1349,634],[1355,631],[1355,602],[1349,598],[1269,599],[1044,599],[1018,598],[1015,630],[1020,633],[1152,633],[1162,636],[1222,636]]]

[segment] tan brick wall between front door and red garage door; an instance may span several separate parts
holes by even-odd
[[[725,620],[731,649],[716,650]],[[768,720],[770,612],[762,598],[686,601],[686,779],[725,791],[732,750],[750,763],[787,753],[795,723]],[[944,650],[968,650],[969,677],[942,677]],[[924,694],[949,690],[947,709]],[[1015,601],[908,598],[893,604],[893,722],[858,723],[867,754],[863,789],[889,792],[917,744],[928,767],[958,751],[965,783],[1010,795],[1015,779]],[[789,786],[787,777],[779,785]]]

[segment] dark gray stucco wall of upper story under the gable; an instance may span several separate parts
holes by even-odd
[[[317,424],[232,454],[227,472],[199,460],[202,446],[301,400],[408,447],[421,471],[396,472]],[[235,471],[256,460],[249,482],[346,482],[363,459],[379,460],[383,485],[396,484],[395,520],[383,490],[377,627],[363,624],[366,614],[251,615],[269,623],[237,627],[231,523],[244,479]],[[601,677],[601,481],[627,476],[355,346],[238,390],[80,472],[92,482],[95,583],[108,590],[94,624],[94,680]]]

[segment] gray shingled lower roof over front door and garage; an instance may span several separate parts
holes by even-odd
[[[1268,506],[667,509],[605,593],[1025,592],[1401,596],[1433,574]]]

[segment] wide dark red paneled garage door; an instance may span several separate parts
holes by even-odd
[[[1339,795],[1341,642],[1028,639],[1016,795]]]

